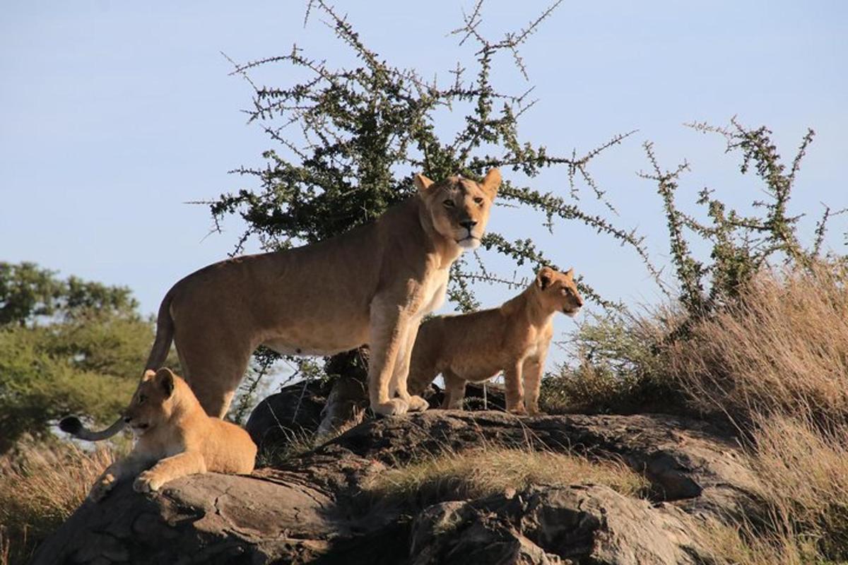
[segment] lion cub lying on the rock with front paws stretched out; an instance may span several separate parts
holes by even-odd
[[[136,446],[103,471],[88,495],[92,501],[136,476],[133,488],[149,492],[187,474],[254,470],[256,446],[250,435],[207,416],[186,381],[168,368],[144,373],[124,421],[137,436]]]

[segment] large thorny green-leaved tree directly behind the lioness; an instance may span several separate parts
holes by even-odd
[[[233,63],[233,73],[248,80],[254,90],[249,121],[261,125],[277,146],[263,154],[264,168],[234,171],[253,178],[254,186],[208,202],[216,225],[229,214],[246,221],[247,230],[234,254],[251,237],[258,238],[266,250],[275,250],[321,241],[371,222],[393,203],[410,197],[412,175],[418,172],[432,179],[452,174],[479,179],[485,170],[499,167],[504,174],[498,196],[501,205],[537,213],[539,223],[549,230],[559,220],[585,224],[632,247],[656,275],[639,236],[584,212],[577,204],[587,193],[612,209],[589,164],[633,132],[612,136],[583,155],[552,154],[518,134],[522,114],[533,106],[529,98],[533,89],[505,93],[493,85],[492,71],[504,59],[527,78],[519,48],[559,4],[545,9],[521,30],[491,40],[480,30],[480,0],[452,32],[460,45],[476,45],[475,58],[457,64],[449,70],[447,84],[439,84],[435,79],[424,80],[415,69],[393,66],[365,45],[346,17],[323,0],[310,1],[304,25],[311,13],[321,12],[359,66],[333,68],[297,46],[286,55]],[[272,65],[305,70],[309,78],[288,86],[254,82],[255,69]],[[451,135],[437,133],[451,124],[456,125]],[[517,180],[533,182],[542,171],[553,168],[565,170],[566,187],[544,191]],[[513,266],[551,264],[530,239],[510,240],[496,225],[492,227],[483,238],[484,249],[508,258]],[[462,310],[479,307],[473,285],[480,281],[516,284],[514,278],[488,269],[480,254],[466,254],[451,270],[449,299]],[[585,296],[608,305],[585,281],[579,285]],[[269,363],[269,357],[264,363]]]

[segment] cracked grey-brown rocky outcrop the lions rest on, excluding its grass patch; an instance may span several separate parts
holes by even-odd
[[[616,457],[650,480],[650,500],[598,485],[427,507],[362,495],[389,466],[483,441]],[[77,510],[33,562],[699,562],[697,517],[745,512],[752,484],[734,443],[694,420],[433,410],[365,422],[251,476],[195,475],[153,496],[121,485]]]

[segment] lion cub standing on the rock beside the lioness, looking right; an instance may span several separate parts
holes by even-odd
[[[560,273],[544,267],[533,284],[500,307],[437,316],[421,324],[410,363],[411,394],[421,394],[441,373],[442,407],[461,408],[467,380],[481,382],[504,371],[506,409],[519,415],[538,414],[538,390],[554,333],[554,314],[575,316],[583,306],[572,274],[573,269]]]

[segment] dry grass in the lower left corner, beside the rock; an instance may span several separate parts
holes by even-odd
[[[0,458],[0,565],[28,561],[113,461],[109,449],[71,444],[22,446]]]

